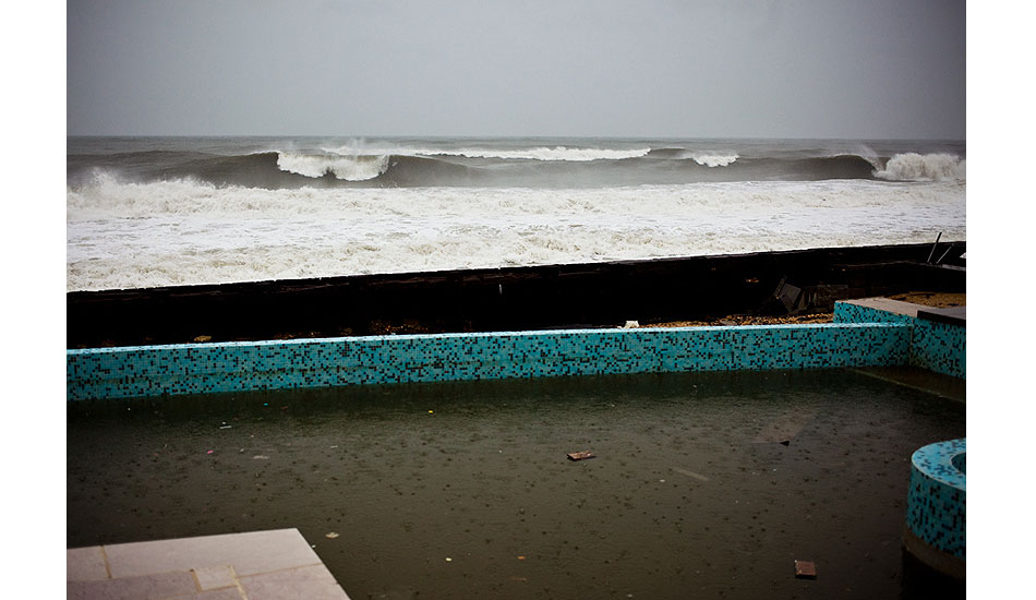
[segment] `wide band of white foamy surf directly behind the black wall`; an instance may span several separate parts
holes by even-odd
[[[965,239],[963,182],[69,188],[69,290]]]

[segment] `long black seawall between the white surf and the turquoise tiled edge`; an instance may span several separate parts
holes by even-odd
[[[936,257],[960,265],[964,243]],[[780,310],[783,279],[822,300],[964,291],[931,244],[69,292],[70,348],[403,332],[614,326]],[[395,326],[395,327],[394,327]]]

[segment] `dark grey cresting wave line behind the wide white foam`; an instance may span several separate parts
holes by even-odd
[[[97,172],[140,183],[190,179],[215,185],[299,188],[614,188],[738,181],[827,179],[963,180],[964,161],[950,155],[896,155],[882,159],[855,154],[827,157],[742,157],[730,152],[587,151],[535,148],[486,152],[415,151],[337,154],[268,151],[244,155],[142,153],[101,161],[70,156],[68,179],[75,188]],[[559,152],[563,158],[551,159]],[[539,156],[539,158],[532,158]],[[490,158],[492,157],[492,158]],[[581,158],[579,158],[581,157]],[[607,158],[605,158],[607,157]]]

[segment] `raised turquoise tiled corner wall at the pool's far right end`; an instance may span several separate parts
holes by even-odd
[[[834,304],[835,323],[902,323],[911,326],[908,364],[965,379],[965,328],[852,302]]]

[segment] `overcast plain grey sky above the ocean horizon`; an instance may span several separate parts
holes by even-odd
[[[955,0],[69,0],[68,133],[965,137]]]

